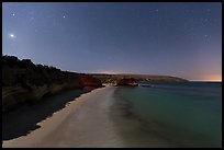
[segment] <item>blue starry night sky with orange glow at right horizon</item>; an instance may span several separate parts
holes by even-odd
[[[75,72],[222,80],[222,3],[4,2],[2,54]]]

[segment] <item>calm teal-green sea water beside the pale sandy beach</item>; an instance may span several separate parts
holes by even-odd
[[[117,88],[111,117],[125,147],[222,147],[222,82]]]

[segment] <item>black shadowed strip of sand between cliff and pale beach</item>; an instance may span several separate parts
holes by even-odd
[[[11,140],[26,136],[32,130],[40,128],[37,123],[51,117],[55,112],[66,107],[76,101],[81,94],[91,92],[93,89],[68,90],[36,102],[32,105],[22,105],[20,108],[2,115],[2,140]]]

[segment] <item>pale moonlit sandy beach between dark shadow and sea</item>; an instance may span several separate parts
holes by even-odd
[[[105,86],[82,94],[52,117],[38,123],[41,128],[12,140],[10,147],[123,147],[122,139],[109,117],[110,95],[115,88]]]

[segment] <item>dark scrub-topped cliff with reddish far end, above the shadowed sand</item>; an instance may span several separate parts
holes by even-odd
[[[102,86],[89,74],[60,71],[54,67],[34,65],[31,60],[2,57],[2,112],[24,103],[35,103],[43,96],[68,89]]]

